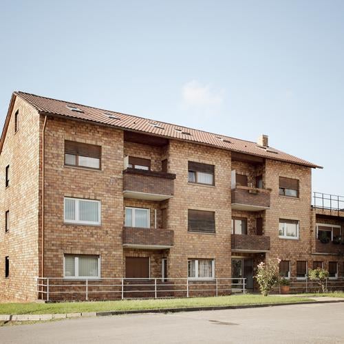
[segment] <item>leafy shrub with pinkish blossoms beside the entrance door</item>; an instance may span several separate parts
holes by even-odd
[[[281,261],[280,259],[277,259]],[[277,264],[265,264],[263,261],[257,266],[255,279],[259,284],[259,290],[264,297],[270,294],[271,290],[279,285],[281,277]]]

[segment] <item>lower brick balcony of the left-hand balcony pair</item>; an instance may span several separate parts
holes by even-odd
[[[122,243],[128,248],[162,250],[173,246],[173,230],[123,227]]]

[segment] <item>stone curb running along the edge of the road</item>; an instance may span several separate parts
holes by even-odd
[[[152,310],[114,310],[105,312],[80,312],[62,314],[0,314],[0,321],[49,321],[54,319],[89,318],[92,316],[111,316],[121,314],[178,313],[206,310],[239,310],[244,308],[275,307],[279,305],[312,305],[314,303],[343,303],[343,300],[300,301],[286,303],[258,303],[256,305],[219,305],[211,307],[158,308]]]

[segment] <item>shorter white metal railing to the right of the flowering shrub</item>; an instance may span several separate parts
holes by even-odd
[[[317,281],[311,281],[306,277],[290,277],[290,292],[322,292],[321,286]],[[328,292],[334,290],[344,290],[344,277],[329,277],[325,280],[325,288]]]

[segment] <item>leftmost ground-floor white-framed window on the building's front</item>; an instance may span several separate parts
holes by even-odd
[[[100,278],[100,257],[93,255],[65,255],[66,279]]]

